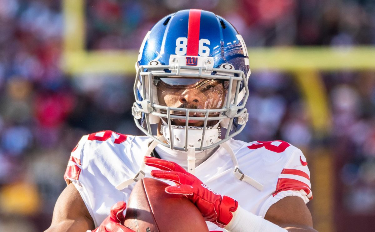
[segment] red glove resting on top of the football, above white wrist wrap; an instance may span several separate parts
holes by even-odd
[[[211,191],[196,176],[186,172],[174,162],[145,157],[144,163],[162,170],[152,170],[151,176],[175,182],[177,185],[168,186],[165,191],[187,196],[201,211],[206,221],[211,221],[223,228],[232,220],[232,212],[236,211],[238,207],[236,200]]]

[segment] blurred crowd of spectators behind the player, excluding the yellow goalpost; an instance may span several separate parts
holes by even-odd
[[[222,15],[248,47],[375,44],[372,0],[85,3],[87,50],[138,50],[157,20],[185,8]],[[49,226],[70,151],[81,136],[101,130],[141,135],[130,113],[133,76],[65,74],[62,4],[0,0],[0,231]],[[250,119],[237,139],[330,149],[337,209],[375,215],[375,71],[321,75],[332,113],[332,130],[323,139],[315,138],[292,74],[267,70],[251,75]]]

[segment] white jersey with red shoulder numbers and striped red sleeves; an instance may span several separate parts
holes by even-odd
[[[123,190],[116,186],[139,171],[151,140],[101,131],[83,136],[73,149],[64,178],[80,192],[95,226],[116,202],[128,201],[135,182]],[[220,147],[195,169],[195,176],[211,190],[232,197],[242,208],[263,218],[270,206],[284,197],[298,196],[305,203],[312,199],[307,162],[296,147],[281,140],[246,143],[230,139],[226,143],[233,149],[241,171],[260,182],[263,189],[237,179],[230,155]],[[146,166],[146,177],[151,177],[152,169]],[[213,223],[207,225],[210,230],[225,231]]]

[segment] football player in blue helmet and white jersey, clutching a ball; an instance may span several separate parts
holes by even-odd
[[[162,18],[136,71],[132,113],[146,136],[83,136],[48,231],[132,231],[122,224],[125,202],[144,176],[174,183],[165,191],[185,194],[210,230],[315,231],[302,152],[281,140],[232,139],[248,120],[250,70],[228,21],[198,9]]]

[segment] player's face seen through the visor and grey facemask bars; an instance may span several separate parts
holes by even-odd
[[[200,78],[160,77],[156,84],[160,105],[178,108],[219,109],[223,107],[226,86],[223,80]],[[174,115],[185,115],[185,112],[171,111]],[[204,117],[205,113],[190,113],[189,116]],[[210,116],[218,116],[213,113]],[[207,126],[216,122],[208,121]],[[184,119],[172,119],[174,125],[185,125]],[[189,120],[189,126],[201,127],[204,121]]]

